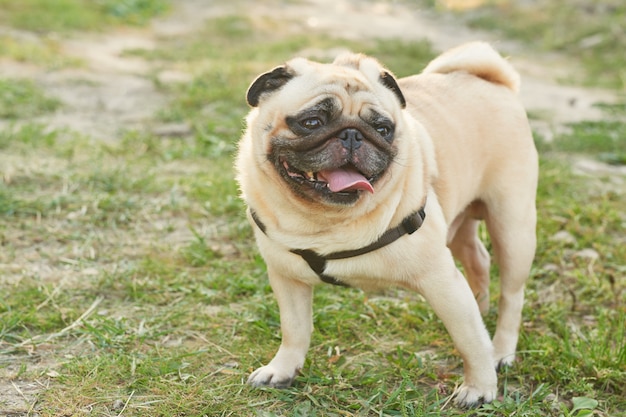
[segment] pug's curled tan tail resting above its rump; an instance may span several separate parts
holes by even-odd
[[[520,76],[513,66],[486,42],[470,42],[432,60],[423,73],[465,71],[486,81],[519,91]]]

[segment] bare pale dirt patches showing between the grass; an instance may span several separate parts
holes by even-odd
[[[568,75],[578,70],[571,58],[537,53],[527,46],[502,39],[493,33],[469,29],[453,16],[418,10],[405,2],[309,0],[226,3],[181,0],[174,4],[174,9],[167,16],[155,19],[144,28],[116,28],[102,33],[81,33],[80,36],[59,39],[57,42],[66,55],[84,62],[80,67],[70,66],[50,71],[40,66],[5,59],[0,62],[0,77],[32,78],[44,86],[49,94],[59,98],[62,102],[59,110],[36,117],[36,121],[52,128],[67,127],[100,141],[116,141],[119,132],[137,127],[147,127],[155,135],[163,137],[184,136],[191,129],[189,125],[155,119],[155,113],[168,100],[167,95],[157,86],[159,83],[188,82],[195,75],[193,69],[163,64],[126,52],[137,49],[152,50],[164,40],[198,30],[207,18],[245,13],[260,25],[265,20],[284,22],[284,26],[279,28],[283,35],[307,30],[356,40],[388,37],[411,41],[427,38],[440,51],[465,41],[489,41],[509,55],[513,65],[521,73],[521,98],[529,113],[541,115],[533,118],[533,128],[548,140],[564,129],[569,129],[569,123],[605,117],[594,104],[617,101],[617,96],[610,90],[583,88],[565,83]],[[345,24],[347,18],[349,25]],[[10,32],[18,37],[31,36],[15,30]],[[41,41],[32,39],[32,42]],[[242,91],[242,96],[243,93]],[[8,126],[8,122],[0,123],[0,127]],[[46,172],[45,167],[36,166],[39,161],[28,158],[6,160],[0,157],[0,163],[5,164],[1,167],[5,181],[10,181],[13,172],[24,170],[24,166],[28,167],[29,164],[33,165],[32,170]],[[614,178],[615,187],[623,190],[623,176],[626,175],[624,166],[613,167],[587,158],[574,163],[580,171],[588,174],[609,173]],[[176,169],[184,171],[181,167]],[[77,212],[75,215],[80,216],[81,213]],[[113,242],[120,241],[127,242],[125,244],[128,252],[140,253],[144,247],[152,245],[155,239],[166,238],[175,245],[179,242],[179,246],[182,246],[184,242],[194,238],[193,231],[184,221],[162,226],[152,222],[150,227],[143,223],[129,231],[112,230],[110,233],[110,236],[100,237],[101,243],[95,250],[119,251],[119,246]],[[120,234],[129,236],[120,237]],[[567,239],[568,236],[560,238]],[[40,245],[44,246],[46,243],[41,242]],[[84,277],[98,274],[99,270],[93,265],[82,268],[74,265],[71,256],[77,252],[84,255],[84,252],[94,249],[72,245],[72,242],[63,241],[48,243],[45,250],[31,244],[16,245],[15,252],[10,257],[0,257],[0,285],[11,285],[24,276],[37,275],[44,281],[57,283],[57,288],[62,291],[63,287],[74,285]],[[222,243],[219,250],[227,253],[230,249],[225,248]],[[586,254],[591,257],[596,255]],[[113,269],[117,260],[119,256],[112,255],[108,262],[98,265],[98,269]],[[53,298],[50,295],[50,299]],[[99,311],[98,300],[99,298],[85,310],[86,315]],[[79,317],[74,323],[80,323],[80,319]],[[71,326],[70,324],[66,328],[71,329]],[[60,335],[52,334],[48,337],[52,341],[57,336]],[[45,345],[38,349],[38,355],[41,355]],[[31,407],[35,404],[36,396],[46,389],[46,383],[53,383],[57,376],[54,363],[43,359],[38,366],[46,370],[44,377],[47,378],[37,381],[20,380],[14,378],[19,373],[19,366],[0,368],[0,415],[32,415]],[[119,404],[120,410],[123,406],[123,402]]]

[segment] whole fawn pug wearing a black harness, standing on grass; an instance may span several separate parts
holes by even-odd
[[[345,54],[330,64],[295,58],[251,84],[237,180],[282,343],[250,384],[292,384],[313,331],[315,285],[402,287],[423,295],[463,359],[456,403],[495,398],[496,368],[515,359],[536,246],[537,151],[518,88],[518,73],[483,42],[402,79]],[[481,318],[490,270],[482,221],[500,275],[493,341]]]

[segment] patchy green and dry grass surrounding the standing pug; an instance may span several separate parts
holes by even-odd
[[[188,83],[157,85],[171,100],[155,119],[188,123],[186,138],[137,129],[96,142],[29,121],[30,110],[14,111],[15,124],[2,128],[0,386],[46,387],[18,412],[623,415],[626,193],[613,177],[571,169],[574,154],[623,152],[613,117],[538,139],[539,249],[520,361],[500,374],[497,401],[469,411],[448,403],[461,363],[419,296],[329,286],[316,290],[316,332],[295,386],[245,385],[280,342],[231,168],[247,85],[299,51],[339,45],[407,72],[433,54],[426,43],[285,37],[278,23],[226,16],[154,51],[129,52],[156,68],[192,70]],[[41,89],[24,97],[11,104],[2,95],[0,108],[54,111],[36,104],[47,97]],[[495,306],[486,324],[493,331]],[[6,401],[0,410],[14,410]]]

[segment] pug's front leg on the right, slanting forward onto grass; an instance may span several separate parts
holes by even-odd
[[[461,406],[491,402],[497,391],[493,345],[467,281],[451,258],[446,264],[443,275],[427,277],[420,283],[420,291],[463,358],[464,381],[455,401]]]

